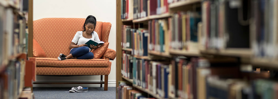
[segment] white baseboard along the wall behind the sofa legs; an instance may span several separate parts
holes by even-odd
[[[66,82],[66,81],[36,81],[36,82]],[[91,81],[71,81],[71,82],[100,82],[99,80]],[[100,84],[33,84],[33,87],[100,87]],[[102,84],[104,87],[104,84]],[[116,87],[115,80],[108,80],[108,87]]]

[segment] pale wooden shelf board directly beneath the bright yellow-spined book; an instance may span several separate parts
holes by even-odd
[[[201,56],[199,51],[170,49],[170,53],[174,55],[184,55],[184,56],[196,56],[196,57]]]

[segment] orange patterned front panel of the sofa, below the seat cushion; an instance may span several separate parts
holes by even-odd
[[[111,62],[110,62],[111,63]],[[109,75],[111,66],[108,67],[36,67],[36,75]]]

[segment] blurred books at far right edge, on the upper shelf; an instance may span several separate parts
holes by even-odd
[[[277,0],[254,0],[252,3],[252,47],[256,57],[278,58]],[[254,45],[254,46],[253,46]]]

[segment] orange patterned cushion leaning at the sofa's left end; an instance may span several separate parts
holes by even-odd
[[[39,43],[33,39],[33,57],[46,57],[45,52],[39,46]]]

